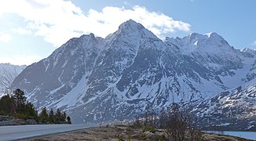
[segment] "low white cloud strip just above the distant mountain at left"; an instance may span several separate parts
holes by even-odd
[[[40,56],[0,56],[1,63],[11,63],[14,65],[30,65],[41,60]]]

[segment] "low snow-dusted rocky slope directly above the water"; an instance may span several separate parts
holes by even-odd
[[[220,92],[194,107],[203,128],[213,130],[256,129],[256,86],[238,87]]]

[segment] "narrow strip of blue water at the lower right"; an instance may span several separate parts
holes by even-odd
[[[238,136],[240,138],[256,140],[256,132],[233,132],[233,131],[203,131],[203,132],[210,132],[210,133],[229,135],[229,136]]]

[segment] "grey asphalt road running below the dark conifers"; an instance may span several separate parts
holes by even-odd
[[[88,125],[13,125],[0,126],[0,140],[19,140],[35,136],[45,136],[58,132],[68,132],[82,128],[90,128]]]

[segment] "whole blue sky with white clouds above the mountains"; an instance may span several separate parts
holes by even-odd
[[[0,63],[31,64],[72,37],[104,38],[133,19],[159,38],[216,32],[235,49],[256,48],[254,0],[5,0]]]

